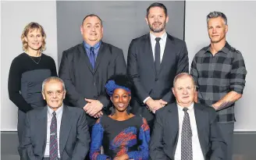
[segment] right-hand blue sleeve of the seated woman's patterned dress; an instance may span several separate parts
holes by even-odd
[[[129,159],[148,160],[148,143],[150,140],[150,129],[146,119],[142,119],[140,126],[139,140],[141,140],[140,151],[130,151],[127,153]]]

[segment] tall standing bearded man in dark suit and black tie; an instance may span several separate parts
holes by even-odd
[[[165,31],[169,21],[165,5],[151,4],[145,20],[150,33],[131,41],[127,72],[135,87],[132,112],[152,128],[155,112],[174,101],[171,82],[177,74],[188,73],[189,63],[186,43]]]

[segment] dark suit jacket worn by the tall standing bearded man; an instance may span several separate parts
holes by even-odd
[[[165,52],[160,72],[155,73],[154,57],[151,48],[150,34],[133,39],[130,43],[127,72],[133,78],[135,97],[139,102],[134,104],[133,113],[142,113],[147,120],[154,118],[143,105],[145,98],[162,99],[169,103],[174,101],[172,81],[179,73],[188,73],[189,62],[185,41],[167,34]],[[133,102],[137,102],[133,101]]]

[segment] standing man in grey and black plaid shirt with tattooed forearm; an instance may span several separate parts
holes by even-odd
[[[215,108],[217,121],[226,141],[225,160],[232,160],[234,104],[243,94],[247,70],[242,54],[226,42],[227,19],[222,12],[207,16],[211,44],[194,56],[190,74],[197,84],[194,101]]]

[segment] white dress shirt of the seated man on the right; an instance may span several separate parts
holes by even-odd
[[[194,116],[194,103],[188,107],[187,113],[190,116],[190,126],[192,130],[192,150],[193,150],[193,160],[204,160],[204,155],[201,150],[201,145],[198,139],[198,134],[197,134],[197,123],[196,119]],[[182,131],[182,125],[183,125],[183,117],[184,117],[184,112],[183,112],[183,107],[178,105],[178,114],[179,114],[179,139],[174,155],[175,160],[180,160],[181,159],[181,131]]]

